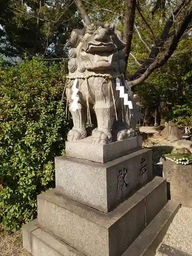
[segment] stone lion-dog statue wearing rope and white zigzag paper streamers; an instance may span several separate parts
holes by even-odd
[[[91,24],[71,33],[66,95],[74,126],[68,141],[86,138],[87,124],[94,116],[93,144],[136,135],[139,111],[123,77],[125,44],[118,34],[108,23]]]

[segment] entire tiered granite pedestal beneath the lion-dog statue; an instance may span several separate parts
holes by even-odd
[[[99,146],[95,162],[82,159],[88,153],[74,158],[67,143],[67,156],[55,159],[56,187],[37,197],[38,217],[23,227],[24,247],[33,256],[132,255],[130,246],[147,230],[155,241],[178,204],[167,205],[166,180],[153,178],[152,151],[137,148],[140,138],[130,140],[119,153],[118,145]]]

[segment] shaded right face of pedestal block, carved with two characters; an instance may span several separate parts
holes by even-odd
[[[152,150],[139,150],[111,161],[106,168],[108,212],[152,179]]]

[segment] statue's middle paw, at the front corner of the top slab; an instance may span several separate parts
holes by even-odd
[[[92,132],[92,144],[108,144],[112,142],[112,135],[109,131],[95,129]]]

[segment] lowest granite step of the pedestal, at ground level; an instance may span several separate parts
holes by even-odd
[[[174,218],[179,207],[179,203],[168,201],[154,220],[143,230],[140,236],[122,254],[122,256],[154,256],[156,248],[167,230],[167,226]],[[25,237],[24,247],[33,256],[86,256],[54,236],[52,233],[40,227],[37,220],[24,226],[23,236]],[[163,247],[163,249],[165,253],[168,251],[166,247]],[[177,252],[179,252],[179,250]],[[173,254],[173,251],[172,254],[160,253],[161,250],[157,255],[190,256],[189,254]],[[97,254],[94,253],[92,255],[101,256],[98,252]]]

